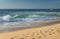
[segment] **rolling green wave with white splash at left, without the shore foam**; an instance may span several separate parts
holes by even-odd
[[[28,14],[23,14],[23,15],[5,15],[0,17],[0,21],[34,21],[34,20],[40,20],[40,19],[55,19],[60,17],[60,14],[33,14],[33,15],[28,15]]]

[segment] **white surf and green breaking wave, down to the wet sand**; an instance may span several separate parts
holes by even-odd
[[[14,14],[14,15],[7,14],[0,16],[0,26],[1,24],[7,26],[7,25],[16,25],[16,24],[25,24],[36,21],[43,21],[43,20],[52,20],[57,18],[60,18],[60,13]]]

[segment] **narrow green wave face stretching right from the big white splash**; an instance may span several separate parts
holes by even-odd
[[[36,14],[36,15],[16,15],[14,18],[36,18],[41,16],[56,16],[60,17],[60,14]]]

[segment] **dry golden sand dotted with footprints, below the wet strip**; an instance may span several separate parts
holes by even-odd
[[[0,33],[0,39],[60,39],[60,23]]]

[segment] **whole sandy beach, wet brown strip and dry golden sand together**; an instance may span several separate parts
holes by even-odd
[[[30,23],[26,27],[1,28],[0,32],[0,39],[60,39],[60,19]]]

